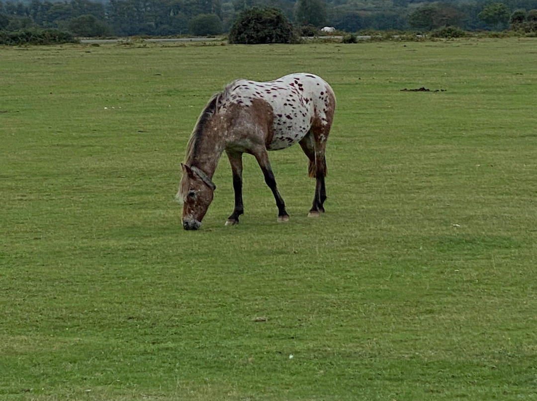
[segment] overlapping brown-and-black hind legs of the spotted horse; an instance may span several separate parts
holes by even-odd
[[[317,140],[313,130],[299,142],[304,153],[309,159],[308,175],[315,178],[315,195],[313,205],[309,211],[309,217],[317,217],[319,213],[324,213],[323,203],[326,200],[326,188],[324,177],[326,176],[326,161],[324,150],[326,147],[326,136]]]

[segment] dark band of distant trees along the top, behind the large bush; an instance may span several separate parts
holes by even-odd
[[[237,16],[273,8],[295,26],[430,31],[532,30],[537,0],[31,0],[0,1],[0,30],[58,28],[79,36],[216,35]],[[529,27],[529,28],[528,28]],[[303,28],[304,29],[304,28]],[[306,29],[307,31],[307,29]]]

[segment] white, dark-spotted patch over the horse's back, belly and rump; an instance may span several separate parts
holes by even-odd
[[[320,95],[317,86],[325,88]],[[306,136],[316,112],[323,125],[328,123],[329,91],[330,86],[322,78],[309,73],[294,73],[269,82],[237,79],[226,87],[220,109],[233,104],[250,107],[254,99],[267,102],[274,114],[274,135],[267,149],[278,150]]]

